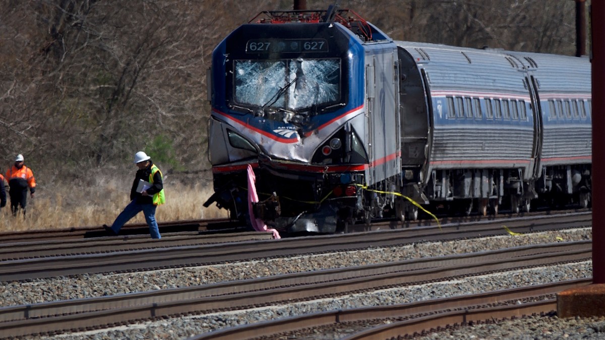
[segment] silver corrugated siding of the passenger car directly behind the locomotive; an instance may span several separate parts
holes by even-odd
[[[430,60],[416,50],[421,47]],[[431,93],[468,91],[526,96],[523,73],[513,68],[503,54],[494,51],[402,44],[428,73]],[[472,64],[460,51],[465,51]],[[483,95],[481,95],[483,97]],[[525,99],[529,101],[529,97]],[[484,113],[485,114],[485,113]],[[530,113],[528,113],[529,116]],[[528,117],[532,122],[532,117]],[[529,171],[534,133],[526,126],[499,125],[476,120],[474,125],[446,125],[434,119],[430,163],[433,169],[524,168]]]

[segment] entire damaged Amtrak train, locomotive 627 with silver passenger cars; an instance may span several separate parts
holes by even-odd
[[[394,41],[352,10],[262,11],[208,70],[204,203],[287,232],[591,201],[587,57]]]

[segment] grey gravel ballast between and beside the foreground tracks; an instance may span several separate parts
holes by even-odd
[[[34,280],[30,283],[5,283],[0,287],[2,306],[31,304],[59,299],[85,298],[115,295],[172,287],[194,286],[221,281],[243,280],[281,273],[301,272],[345,266],[361,266],[371,263],[408,260],[420,257],[436,257],[455,253],[477,252],[528,244],[554,243],[558,241],[590,240],[591,230],[573,229],[560,232],[545,232],[519,236],[503,236],[476,240],[419,243],[401,247],[367,249],[355,252],[266,259],[245,263],[215,266],[189,267],[184,269],[157,270],[154,272],[127,273],[119,275],[82,275],[74,278]],[[243,312],[216,313],[212,315],[188,316],[144,324],[115,327],[102,331],[55,336],[65,339],[183,339],[212,330],[232,327],[251,322],[284,318],[301,313],[312,313],[331,309],[347,309],[363,306],[401,304],[424,299],[479,293],[516,286],[543,284],[553,281],[571,280],[592,276],[592,263],[567,264],[557,267],[540,267],[521,272],[503,272],[482,275],[464,280],[446,281],[396,289],[377,290],[364,294],[342,296],[338,299],[300,302],[288,306],[273,306]],[[535,318],[534,322],[514,321],[514,325],[498,327],[477,325],[460,330],[448,331],[426,337],[468,339],[578,339],[582,336],[605,338],[604,320],[561,321],[557,318]],[[525,322],[526,325],[523,325]],[[493,327],[494,329],[491,329]],[[505,333],[497,333],[504,329]],[[462,333],[456,333],[462,332]],[[464,333],[470,332],[470,333]],[[482,333],[483,332],[483,333]],[[565,335],[567,334],[567,335]],[[342,336],[342,335],[341,335]],[[327,336],[325,339],[330,339]]]

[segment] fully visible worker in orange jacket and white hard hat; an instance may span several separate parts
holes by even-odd
[[[10,210],[13,215],[17,215],[19,208],[23,209],[25,215],[25,206],[27,205],[27,189],[30,189],[30,196],[34,198],[36,191],[36,179],[30,168],[23,165],[23,155],[18,154],[15,158],[15,165],[11,166],[6,172],[8,181],[8,194],[10,195]]]

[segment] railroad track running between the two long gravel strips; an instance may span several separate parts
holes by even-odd
[[[451,280],[460,276],[585,261],[591,255],[590,241],[577,241],[293,273],[206,286],[4,307],[0,309],[0,335],[53,335],[191,313],[246,310],[272,304],[331,298],[365,290]],[[587,283],[589,282],[584,280],[575,284]],[[410,307],[402,307],[402,310],[409,313]],[[458,317],[468,317],[471,314],[463,313]],[[483,315],[478,314],[477,318],[483,318]],[[452,322],[451,319],[439,322],[445,322],[443,320]],[[433,322],[435,323],[437,321]],[[295,324],[301,325],[301,322]],[[302,322],[302,325],[307,327],[309,322]],[[262,328],[260,325],[256,327]],[[220,334],[210,333],[208,336],[219,339],[218,335]],[[233,333],[227,333],[226,338],[237,339]]]

